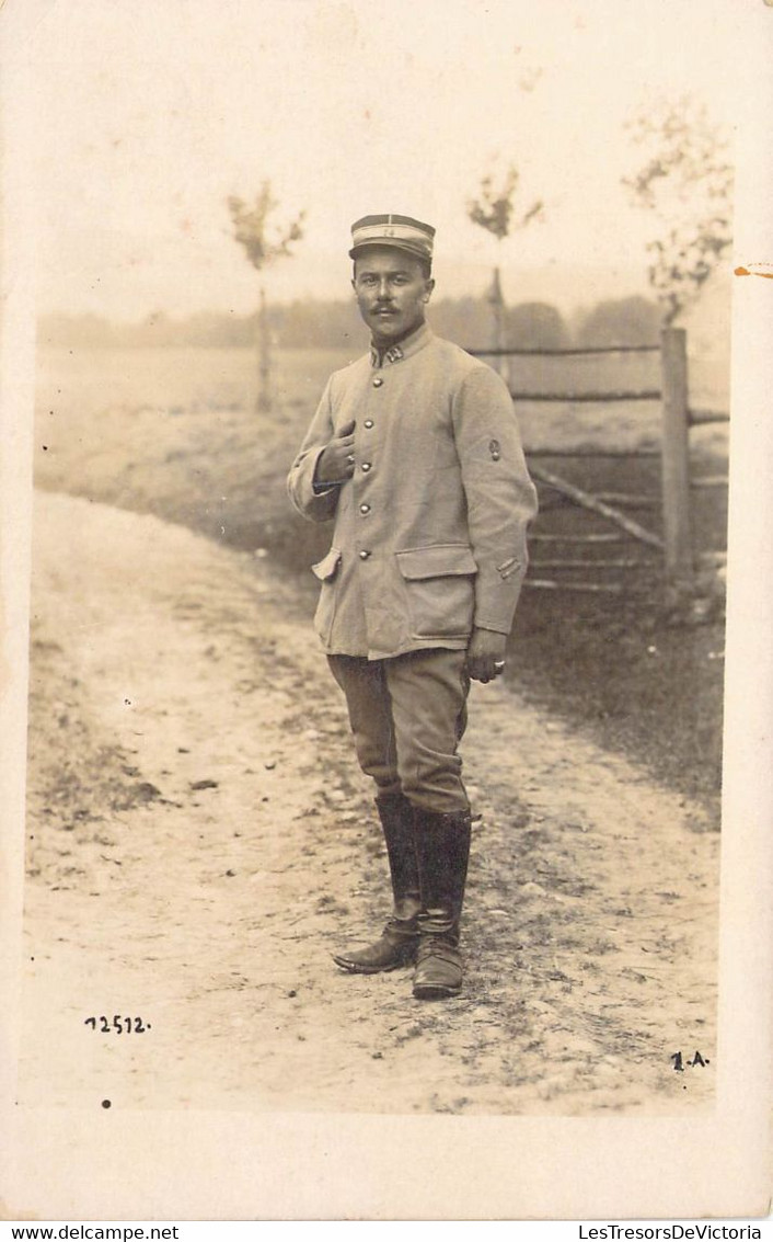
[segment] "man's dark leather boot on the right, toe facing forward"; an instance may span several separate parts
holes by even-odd
[[[419,1000],[462,991],[459,923],[470,853],[470,812],[413,809],[422,912],[413,995]]]

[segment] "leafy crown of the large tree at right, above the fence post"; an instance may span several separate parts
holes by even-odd
[[[728,139],[690,96],[661,99],[627,129],[645,160],[623,185],[656,220],[646,246],[649,281],[669,327],[697,298],[732,241]]]

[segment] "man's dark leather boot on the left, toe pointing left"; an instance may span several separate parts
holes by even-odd
[[[418,912],[422,908],[416,858],[412,807],[403,794],[381,794],[376,799],[390,859],[393,915],[381,936],[367,949],[334,954],[333,960],[352,975],[375,975],[416,960]]]

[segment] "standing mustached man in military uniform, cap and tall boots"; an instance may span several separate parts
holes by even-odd
[[[370,354],[331,375],[288,479],[300,514],[335,522],[315,626],[376,784],[393,891],[381,938],[335,961],[414,961],[419,999],[462,987],[470,805],[457,748],[470,678],[505,666],[536,510],[505,384],[424,320],[433,240],[409,216],[352,225]]]

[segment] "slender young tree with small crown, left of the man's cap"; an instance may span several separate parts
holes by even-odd
[[[293,245],[303,237],[305,211],[300,211],[289,224],[272,224],[270,217],[278,207],[272,195],[270,181],[263,181],[249,206],[242,199],[232,195],[228,199],[228,211],[233,221],[233,236],[244,247],[247,258],[257,272],[263,272],[279,258],[289,258]],[[266,283],[261,281],[261,301],[258,308],[258,410],[270,410],[270,337],[268,329],[268,307],[266,302]]]

